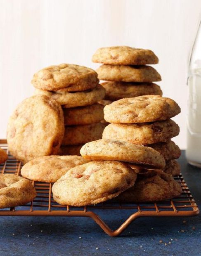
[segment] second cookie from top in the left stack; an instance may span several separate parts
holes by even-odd
[[[105,96],[105,90],[102,85],[97,85],[92,90],[82,92],[50,92],[45,90],[36,89],[35,95],[47,95],[56,100],[64,108],[72,108],[79,106],[87,106],[102,100]]]

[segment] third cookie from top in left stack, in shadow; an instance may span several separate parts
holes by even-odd
[[[63,109],[64,124],[72,126],[99,123],[104,119],[103,108],[103,105],[96,103],[85,107]]]

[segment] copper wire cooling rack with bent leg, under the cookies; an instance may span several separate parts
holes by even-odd
[[[0,147],[7,150],[6,140],[0,140]],[[8,150],[7,150],[7,153]],[[13,173],[20,175],[21,162],[17,161],[9,154],[5,164],[0,165],[0,173]],[[92,218],[110,236],[118,236],[133,220],[140,217],[187,217],[199,214],[198,206],[192,197],[187,184],[182,175],[174,177],[182,186],[180,197],[168,201],[143,203],[143,204],[118,204],[111,201],[102,204],[90,205],[85,207],[62,206],[57,204],[52,198],[52,184],[34,182],[37,197],[28,204],[10,209],[1,209],[0,216],[79,216]],[[116,230],[111,230],[99,216],[101,209],[109,210],[110,214],[114,211],[125,211],[130,216]]]

